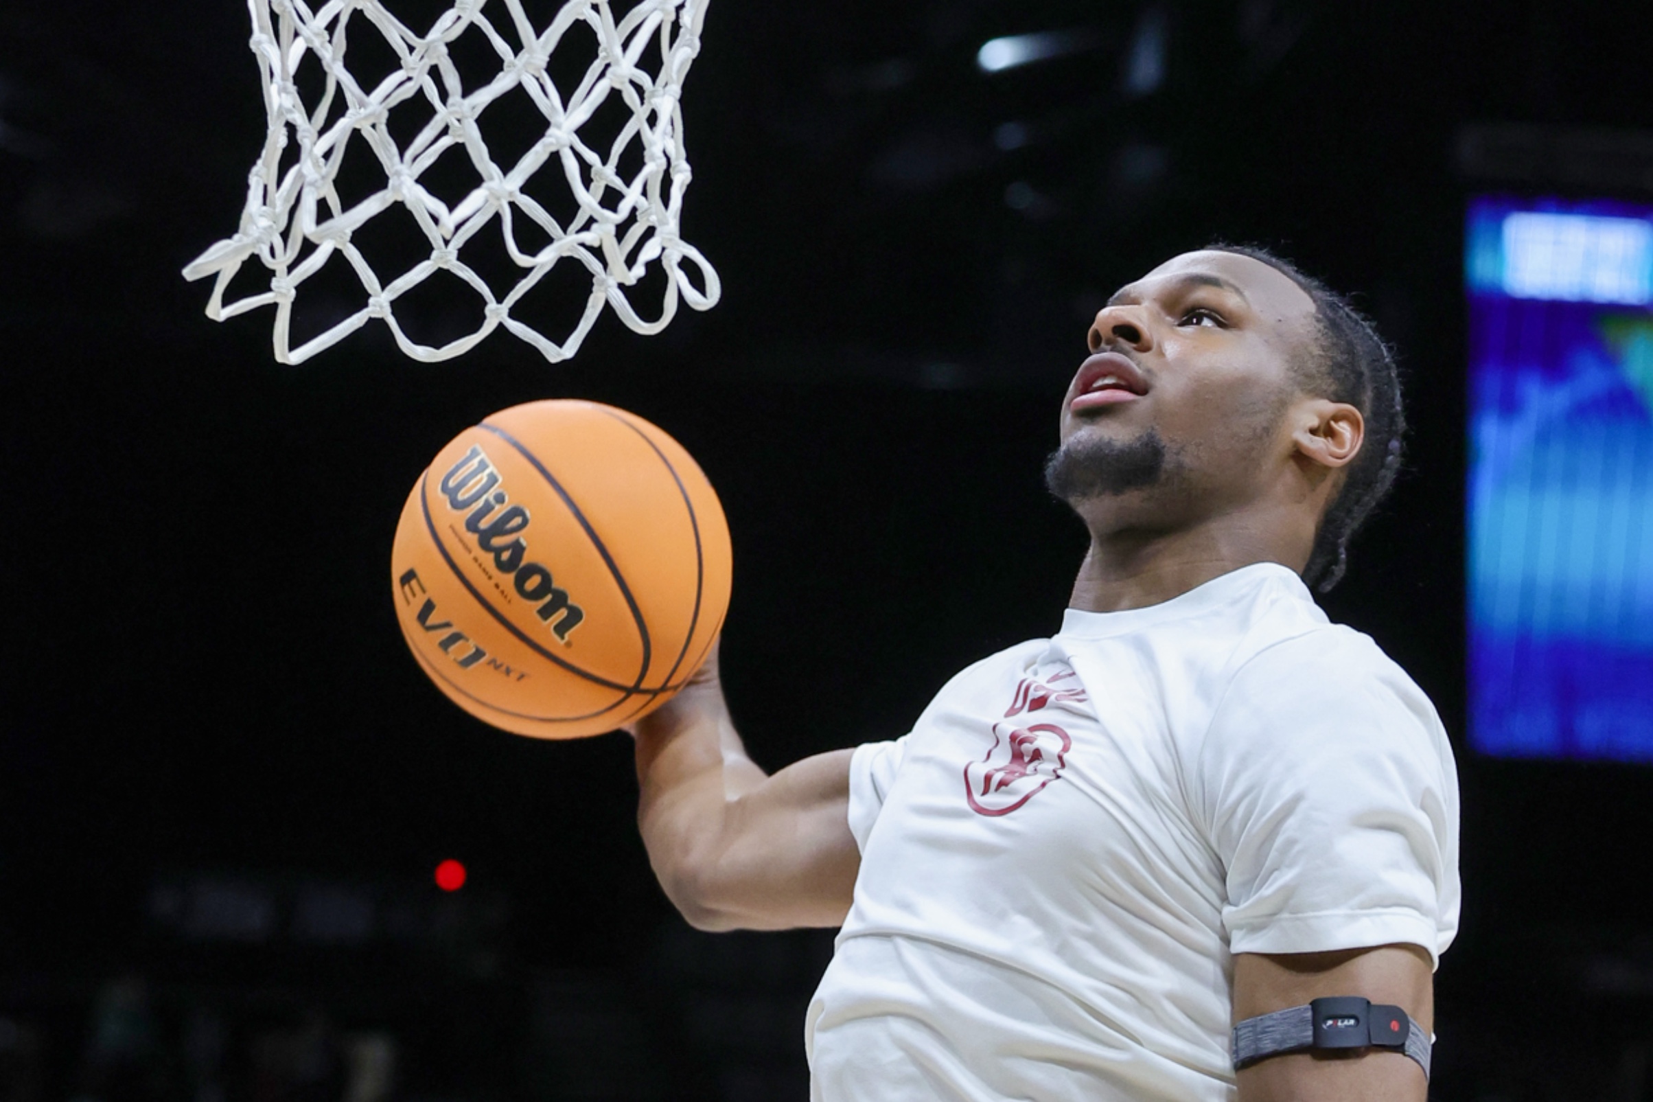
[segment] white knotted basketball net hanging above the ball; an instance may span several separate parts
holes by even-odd
[[[579,350],[605,302],[641,334],[660,332],[676,314],[679,297],[694,309],[714,306],[717,274],[678,236],[689,183],[678,96],[699,51],[706,3],[638,0],[617,18],[610,0],[567,0],[549,26],[536,28],[522,0],[458,0],[428,31],[415,33],[380,0],[331,0],[314,12],[302,0],[248,0],[269,134],[248,178],[240,231],[207,249],[183,276],[217,278],[207,306],[213,321],[274,306],[276,359],[284,363],[304,362],[374,317],[383,319],[397,345],[418,360],[460,355],[504,325],[555,362]],[[587,30],[595,35],[595,59],[572,89],[569,79],[559,89],[549,71],[552,55]],[[352,33],[382,36],[400,61],[372,88],[364,88],[345,68]],[[493,51],[486,56],[496,55],[499,61],[498,74],[489,73],[491,79],[469,93],[451,56],[461,35],[481,35]],[[592,43],[584,46],[592,53]],[[306,55],[319,76],[309,81],[311,102],[304,102],[294,79]],[[648,71],[653,66],[645,58],[653,58],[658,71]],[[501,165],[478,122],[501,97],[521,101],[517,89],[539,109],[544,135]],[[592,140],[598,145],[592,149],[580,127],[605,104],[610,106],[605,117],[615,117],[615,97],[630,117],[617,134]],[[507,107],[516,104],[496,111]],[[398,111],[428,117],[402,144],[392,137]],[[539,122],[534,119],[536,131]],[[289,142],[298,145],[296,157]],[[383,185],[347,205],[337,178],[350,145],[359,147],[355,157],[370,152],[377,159]],[[474,187],[445,203],[420,178],[455,147],[474,167]],[[522,190],[541,169],[560,169],[572,193],[574,203],[560,220]],[[397,203],[412,213],[430,254],[385,281],[350,236]],[[498,296],[461,258],[464,245],[494,220],[514,264],[514,286],[501,287]],[[527,248],[519,246],[524,230],[534,238]],[[299,347],[289,347],[299,287],[334,254],[354,269],[365,302]],[[230,281],[250,258],[269,269],[269,289],[225,302]],[[699,269],[698,281],[689,278],[684,261]],[[572,332],[552,340],[514,317],[512,307],[559,263],[584,266],[590,296]],[[640,291],[651,264],[665,269],[665,291],[651,316],[645,316],[628,296]],[[481,296],[483,312],[474,330],[431,347],[408,337],[397,319],[397,299],[438,271],[451,273]]]

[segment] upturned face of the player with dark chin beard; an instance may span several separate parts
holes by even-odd
[[[1061,453],[1093,468],[1073,496],[1147,487],[1167,473],[1184,487],[1243,492],[1279,444],[1312,319],[1303,287],[1236,253],[1185,253],[1121,287],[1063,398]]]

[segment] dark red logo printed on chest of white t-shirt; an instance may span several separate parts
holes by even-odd
[[[993,745],[980,762],[964,767],[964,798],[977,815],[1010,815],[1028,800],[1045,791],[1068,765],[1073,739],[1056,724],[1027,724],[1017,727],[1005,720],[1025,712],[1038,712],[1066,701],[1084,701],[1084,689],[1073,682],[1071,669],[1046,681],[1023,677],[1010,701],[1005,719],[993,724]]]

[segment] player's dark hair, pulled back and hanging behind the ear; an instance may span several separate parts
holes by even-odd
[[[1261,261],[1308,292],[1314,301],[1316,332],[1304,385],[1324,390],[1332,401],[1347,401],[1365,418],[1365,439],[1314,530],[1314,549],[1303,568],[1303,580],[1326,593],[1349,565],[1349,540],[1400,474],[1407,416],[1395,354],[1347,297],[1283,256],[1255,245],[1215,243],[1205,248]]]

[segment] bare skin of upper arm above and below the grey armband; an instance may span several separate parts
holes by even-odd
[[[1342,995],[1400,1006],[1420,1028],[1435,1026],[1433,967],[1417,945],[1235,955],[1235,1023]],[[1423,1102],[1428,1094],[1417,1061],[1372,1047],[1273,1056],[1240,1071],[1238,1082],[1240,1102]]]

